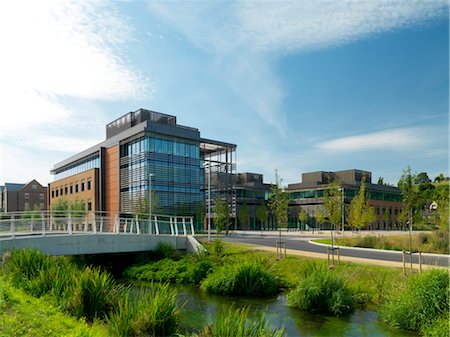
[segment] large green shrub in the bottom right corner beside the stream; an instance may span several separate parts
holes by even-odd
[[[436,317],[448,316],[448,293],[448,272],[427,271],[411,277],[406,289],[382,307],[381,315],[391,326],[418,331]]]

